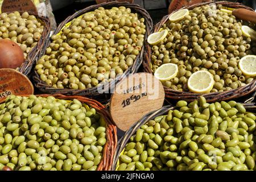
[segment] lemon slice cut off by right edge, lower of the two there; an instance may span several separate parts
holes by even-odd
[[[256,76],[256,56],[247,55],[240,59],[238,64],[239,69],[246,76]]]

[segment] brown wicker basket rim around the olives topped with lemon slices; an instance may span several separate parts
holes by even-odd
[[[253,10],[250,7],[247,6],[243,6],[240,3],[233,3],[233,2],[226,2],[226,1],[221,1],[221,2],[217,2],[217,1],[212,1],[212,2],[206,2],[206,3],[199,3],[196,5],[192,5],[192,6],[187,6],[187,7],[183,7],[183,9],[193,9],[197,6],[203,6],[203,5],[208,5],[210,3],[216,3],[216,4],[221,4],[223,6],[226,7],[232,7],[232,8],[244,8],[244,9],[248,9],[248,10]],[[176,11],[174,11],[173,13],[175,13]],[[162,25],[167,22],[168,18],[170,15],[166,15],[163,17],[162,20],[160,20],[160,22],[158,24],[156,24],[155,26],[155,30],[154,32],[158,32],[160,30],[160,28],[162,27]],[[143,61],[143,68],[145,72],[148,73],[152,73],[152,69],[151,69],[151,47],[148,46],[148,44],[146,45],[146,49],[147,49],[147,53],[145,53],[145,58]],[[164,90],[166,93],[166,98],[171,100],[185,100],[185,101],[193,101],[193,100],[197,100],[200,96],[202,96],[202,94],[197,94],[197,93],[191,93],[191,92],[180,92],[177,90],[172,90],[170,88],[167,88],[166,86],[164,86]],[[243,97],[243,96],[248,96],[249,94],[253,93],[256,91],[256,80],[252,81],[250,84],[247,84],[245,86],[242,86],[238,89],[232,89],[226,92],[216,92],[216,93],[208,93],[208,94],[203,94],[203,96],[207,99],[207,101],[209,102],[214,102],[214,101],[220,101],[220,100],[231,100],[231,99],[235,99],[238,97]]]

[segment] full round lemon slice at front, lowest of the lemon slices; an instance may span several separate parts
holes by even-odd
[[[188,78],[188,89],[193,93],[209,93],[213,85],[213,76],[208,71],[197,71]]]

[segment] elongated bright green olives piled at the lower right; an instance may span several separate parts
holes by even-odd
[[[255,171],[255,119],[235,101],[179,101],[137,130],[118,170]]]

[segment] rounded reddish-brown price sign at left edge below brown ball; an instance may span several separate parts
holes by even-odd
[[[0,69],[0,98],[11,94],[30,95],[34,94],[34,87],[31,81],[15,69]]]

